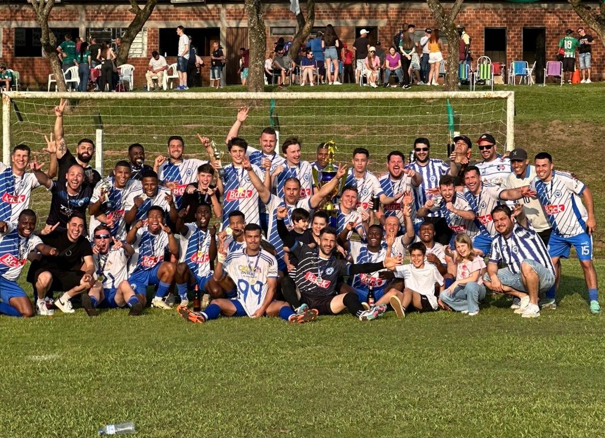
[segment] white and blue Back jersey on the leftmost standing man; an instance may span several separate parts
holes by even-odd
[[[0,221],[17,223],[30,204],[31,191],[39,185],[33,173],[18,177],[13,168],[0,163]]]

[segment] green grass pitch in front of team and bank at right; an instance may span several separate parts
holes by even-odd
[[[517,146],[551,151],[586,182],[601,229],[604,91],[515,87]],[[95,436],[128,420],[145,437],[600,436],[603,316],[586,298],[569,260],[558,309],[530,320],[497,297],[473,318],[389,312],[368,323],[202,325],[155,309],[0,317],[0,436]]]

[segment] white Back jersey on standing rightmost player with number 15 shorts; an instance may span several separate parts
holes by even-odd
[[[574,237],[586,232],[588,212],[580,198],[586,186],[567,172],[553,171],[551,180],[535,177],[531,188],[537,192],[552,232],[561,237]]]

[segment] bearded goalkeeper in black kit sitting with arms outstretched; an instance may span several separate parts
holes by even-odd
[[[387,306],[370,307],[364,310],[356,293],[348,292],[336,295],[335,287],[341,275],[355,275],[358,273],[371,273],[381,269],[394,269],[400,266],[403,257],[387,257],[379,263],[351,264],[338,260],[334,255],[336,247],[336,230],[325,227],[319,233],[319,247],[310,248],[293,238],[284,223],[288,214],[285,207],[277,211],[277,230],[284,246],[296,255],[298,266],[294,281],[301,293],[301,301],[310,309],[316,309],[319,315],[336,315],[348,309],[351,315],[359,321],[376,319],[387,310]]]

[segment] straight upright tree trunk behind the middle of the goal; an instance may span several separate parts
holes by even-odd
[[[267,34],[263,21],[261,0],[245,0],[250,39],[250,59],[248,68],[248,91],[264,91],[264,60],[267,51]]]

